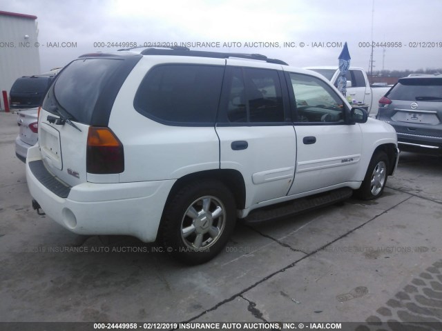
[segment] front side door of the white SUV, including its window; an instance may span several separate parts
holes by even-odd
[[[296,174],[289,194],[352,181],[361,160],[362,133],[347,124],[348,109],[325,81],[287,73],[295,107]]]

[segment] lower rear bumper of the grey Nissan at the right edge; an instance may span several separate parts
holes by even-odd
[[[406,152],[422,152],[425,154],[442,154],[442,137],[424,136],[398,132],[399,149]]]

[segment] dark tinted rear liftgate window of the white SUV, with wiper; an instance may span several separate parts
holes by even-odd
[[[138,57],[84,58],[71,62],[50,87],[44,110],[92,126],[107,126],[113,102]]]

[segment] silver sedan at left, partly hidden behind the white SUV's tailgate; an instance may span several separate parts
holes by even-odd
[[[38,140],[38,108],[20,110],[17,113],[17,124],[19,125],[19,135],[15,139],[15,154],[26,162],[28,148],[37,143]]]

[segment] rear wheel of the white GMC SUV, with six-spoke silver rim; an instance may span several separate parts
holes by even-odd
[[[213,259],[236,223],[236,203],[219,181],[184,186],[164,209],[161,237],[175,259],[195,265]]]

